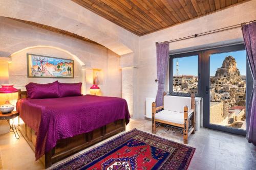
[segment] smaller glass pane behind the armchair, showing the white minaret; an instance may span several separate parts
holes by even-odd
[[[198,60],[199,55],[170,56],[170,91],[198,94]]]

